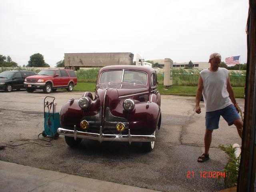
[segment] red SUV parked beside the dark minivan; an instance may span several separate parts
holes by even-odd
[[[58,88],[72,91],[76,84],[76,73],[66,69],[43,69],[38,74],[27,77],[24,81],[24,87],[30,93],[36,89],[42,89],[44,93],[56,91]]]

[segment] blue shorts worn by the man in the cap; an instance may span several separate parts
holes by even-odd
[[[240,116],[238,115],[236,108],[233,104],[225,107],[224,109],[206,112],[205,116],[205,126],[206,129],[213,130],[219,128],[219,121],[220,116],[222,116],[226,122],[228,122],[228,125],[232,125],[234,120],[240,119]]]

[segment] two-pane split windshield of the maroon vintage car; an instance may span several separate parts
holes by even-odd
[[[100,76],[100,83],[116,83],[126,82],[146,85],[147,74],[145,72],[124,70],[124,77],[122,78],[123,70],[104,71]]]

